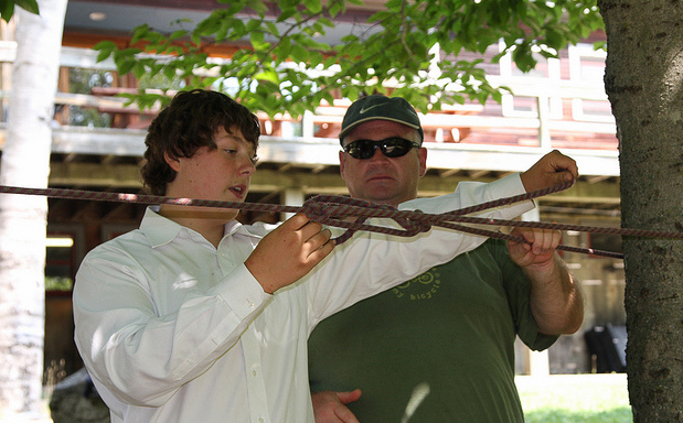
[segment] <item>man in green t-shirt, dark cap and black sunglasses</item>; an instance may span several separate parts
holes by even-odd
[[[351,196],[392,206],[415,198],[423,137],[405,99],[355,101],[340,133]],[[576,177],[570,159],[549,154]],[[534,248],[490,239],[321,322],[309,338],[316,422],[523,422],[515,337],[548,348],[580,327],[583,302],[553,252],[559,232],[520,234]]]

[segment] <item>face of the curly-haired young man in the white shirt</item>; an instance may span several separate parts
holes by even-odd
[[[221,128],[214,134],[216,148],[202,147],[192,158],[169,159],[175,180],[167,195],[223,202],[244,202],[255,171],[254,145],[239,130],[227,133]],[[230,210],[236,216],[237,210]]]

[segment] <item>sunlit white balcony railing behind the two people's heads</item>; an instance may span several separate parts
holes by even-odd
[[[0,62],[13,61],[15,44],[0,42]],[[96,62],[96,52],[63,47],[63,67],[115,72],[110,61]],[[535,104],[531,112],[505,112],[505,105],[478,104],[445,106],[439,112],[420,116],[425,128],[429,166],[442,170],[470,169],[520,171],[533,163],[540,153],[553,148],[568,151],[579,162],[584,174],[618,176],[618,151],[611,116],[594,119],[577,117],[577,101],[601,101],[607,98],[598,85],[573,80],[547,80],[530,77],[491,77],[495,86],[505,86],[515,97]],[[117,90],[93,89],[90,93],[56,93],[55,104],[92,108],[110,115],[138,117],[127,128],[78,128],[61,126],[54,130],[53,151],[68,154],[141,155],[143,128],[157,112],[141,115],[135,106],[114,96]],[[0,100],[7,105],[7,87]],[[301,164],[337,164],[339,141],[335,134],[350,101],[335,100],[320,105],[301,119],[286,113],[274,119],[259,115],[266,134],[262,138],[263,161]],[[561,112],[551,110],[551,106]],[[608,105],[608,104],[607,104]],[[142,118],[140,118],[142,116]],[[583,119],[583,120],[581,120]],[[3,132],[3,131],[2,131]],[[298,135],[295,135],[298,133]],[[0,134],[3,144],[3,133]]]

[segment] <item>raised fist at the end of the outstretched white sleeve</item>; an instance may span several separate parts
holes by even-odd
[[[578,177],[576,161],[557,150],[545,154],[520,175],[527,193],[545,189]]]

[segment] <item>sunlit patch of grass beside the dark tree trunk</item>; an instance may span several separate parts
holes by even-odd
[[[526,423],[632,423],[625,373],[516,377]]]

